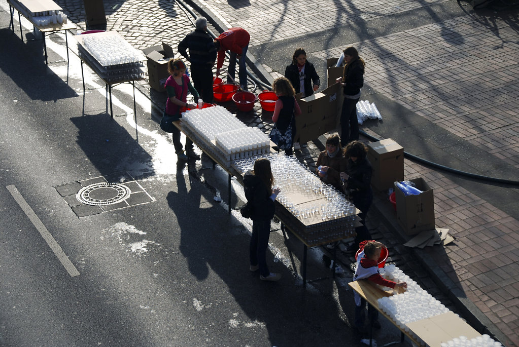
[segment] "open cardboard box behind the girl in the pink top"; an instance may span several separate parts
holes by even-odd
[[[173,59],[171,46],[162,42],[162,46],[154,46],[142,50],[147,58],[149,86],[157,92],[166,91],[164,83],[169,77],[168,62]]]

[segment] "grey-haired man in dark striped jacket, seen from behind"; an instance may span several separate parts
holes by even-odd
[[[207,19],[198,17],[195,31],[190,32],[177,47],[191,63],[191,78],[198,94],[206,103],[213,103],[213,66],[216,61],[216,47],[207,33]],[[189,54],[187,54],[189,49]]]

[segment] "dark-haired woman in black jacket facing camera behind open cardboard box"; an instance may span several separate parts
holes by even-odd
[[[285,77],[292,83],[296,94],[303,92],[303,97],[312,95],[321,84],[316,68],[306,60],[306,52],[303,48],[295,50],[292,64],[285,69]]]

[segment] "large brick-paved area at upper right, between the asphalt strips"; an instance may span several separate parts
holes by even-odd
[[[481,24],[461,17],[353,46],[377,92],[519,169],[517,28]],[[325,60],[342,49],[313,55]]]

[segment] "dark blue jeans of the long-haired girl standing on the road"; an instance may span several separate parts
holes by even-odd
[[[268,238],[270,237],[270,220],[252,221],[252,237],[249,244],[251,265],[260,266],[260,274],[267,277],[270,272],[267,267]]]

